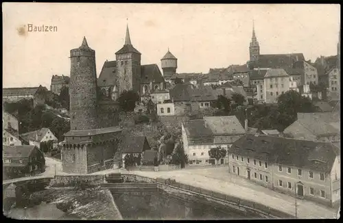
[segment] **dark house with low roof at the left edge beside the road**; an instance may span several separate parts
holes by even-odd
[[[44,154],[37,146],[3,146],[3,179],[32,176],[44,171]]]

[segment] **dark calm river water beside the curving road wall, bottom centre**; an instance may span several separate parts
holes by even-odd
[[[165,192],[116,194],[115,203],[127,220],[228,220],[259,218],[215,205],[185,202]]]

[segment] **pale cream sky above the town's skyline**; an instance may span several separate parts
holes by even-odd
[[[141,64],[161,69],[169,47],[178,73],[208,73],[249,60],[253,20],[261,54],[304,53],[312,61],[336,55],[340,5],[3,3],[3,88],[49,89],[52,75],[69,75],[70,50],[83,36],[99,77],[124,44],[126,18]],[[58,30],[19,35],[28,23]]]

